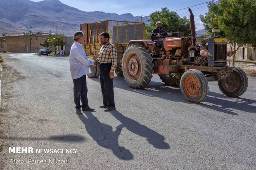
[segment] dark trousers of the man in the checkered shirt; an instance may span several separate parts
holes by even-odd
[[[100,64],[100,86],[103,105],[115,107],[113,79],[109,77],[112,63]]]

